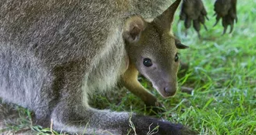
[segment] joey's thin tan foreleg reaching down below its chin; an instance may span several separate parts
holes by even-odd
[[[162,106],[159,105],[157,98],[147,91],[137,80],[138,71],[130,62],[128,69],[122,76],[123,85],[133,94],[137,95],[147,106]]]

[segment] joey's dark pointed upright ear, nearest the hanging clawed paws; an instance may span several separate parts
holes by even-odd
[[[174,13],[176,12],[176,9],[180,5],[181,0],[176,0],[172,3],[172,5],[169,6],[168,9],[165,10],[165,12],[162,12],[160,16],[157,16],[153,22],[156,24],[156,26],[162,30],[171,30]]]

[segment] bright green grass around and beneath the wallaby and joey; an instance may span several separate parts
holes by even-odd
[[[181,59],[189,63],[190,69],[180,77],[179,84],[193,87],[193,93],[178,91],[175,97],[164,99],[150,83],[143,80],[143,84],[165,105],[166,112],[157,117],[183,123],[201,134],[256,134],[256,3],[238,1],[238,23],[232,34],[223,36],[221,22],[212,27],[215,23],[213,4],[211,0],[204,1],[210,20],[206,22],[208,31],[202,27],[201,35],[207,40],[198,39],[192,29],[185,36],[183,23],[177,23],[180,11],[173,24],[176,36],[190,46],[180,51]],[[147,114],[143,102],[130,92],[122,91],[118,95],[115,94],[115,98],[98,95],[92,104],[98,108]],[[30,118],[27,114],[23,115]],[[30,124],[12,125],[8,130],[20,130],[19,127],[31,128],[38,134],[50,130]]]

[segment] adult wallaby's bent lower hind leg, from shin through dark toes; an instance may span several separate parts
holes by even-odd
[[[58,105],[53,108],[52,122],[55,130],[67,131],[69,133],[80,134],[127,134],[130,128],[130,121],[135,126],[138,135],[147,134],[149,127],[151,130],[160,126],[156,134],[183,134],[187,128],[163,122],[162,120],[144,115],[129,114],[129,112],[110,112],[108,110],[98,110],[87,105],[87,93],[82,91],[84,75],[80,66],[74,66],[74,62],[63,68],[64,86]],[[73,81],[76,79],[77,81]],[[85,80],[87,82],[87,80]],[[86,85],[86,84],[85,84]],[[88,90],[87,90],[88,91]],[[130,119],[131,118],[131,119]],[[135,134],[133,130],[130,134]]]

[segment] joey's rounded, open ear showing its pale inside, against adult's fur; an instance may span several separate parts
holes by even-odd
[[[140,39],[141,32],[145,29],[146,22],[141,16],[132,16],[126,20],[123,29],[123,38],[130,42],[136,42]]]

